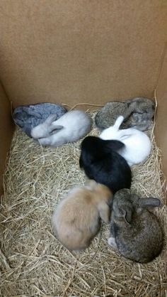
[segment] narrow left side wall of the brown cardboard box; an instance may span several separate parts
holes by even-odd
[[[0,196],[2,193],[2,174],[4,172],[6,154],[11,144],[12,133],[11,107],[0,84]]]

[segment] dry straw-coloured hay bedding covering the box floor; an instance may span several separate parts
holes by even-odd
[[[108,225],[81,254],[69,252],[52,235],[57,202],[86,180],[79,169],[80,143],[42,148],[16,129],[1,200],[1,296],[167,296],[166,247],[151,264],[142,265],[108,246]],[[151,156],[132,168],[132,188],[164,202],[154,136],[152,143]],[[167,232],[166,206],[155,211]]]

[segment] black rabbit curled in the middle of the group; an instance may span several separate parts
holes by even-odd
[[[108,186],[113,193],[121,188],[130,188],[131,169],[125,158],[117,153],[124,146],[120,141],[87,136],[81,143],[79,166],[84,168],[88,178]]]

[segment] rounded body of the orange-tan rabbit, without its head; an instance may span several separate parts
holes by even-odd
[[[89,192],[76,190],[60,202],[54,212],[54,232],[68,249],[86,249],[100,228],[98,208],[93,205]]]

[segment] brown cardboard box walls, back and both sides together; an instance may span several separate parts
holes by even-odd
[[[166,16],[165,0],[1,0],[0,174],[13,133],[10,102],[104,104],[156,89],[167,175]]]

